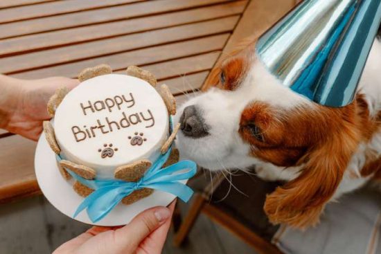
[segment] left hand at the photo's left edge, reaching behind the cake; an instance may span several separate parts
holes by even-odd
[[[37,140],[42,132],[42,122],[51,118],[46,111],[49,98],[57,88],[73,89],[78,83],[78,80],[64,77],[19,80],[0,75],[0,87],[5,93],[0,99],[0,115],[3,115],[0,127]]]

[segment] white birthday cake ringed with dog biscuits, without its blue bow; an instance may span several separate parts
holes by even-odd
[[[67,181],[73,174],[83,179],[139,181],[152,162],[165,153],[175,138],[170,114],[175,99],[166,85],[158,92],[156,79],[136,66],[127,75],[113,74],[106,65],[85,69],[72,91],[58,89],[48,102],[53,117],[44,133],[57,154],[57,165]],[[173,149],[168,163],[178,161]],[[82,197],[89,186],[73,181]],[[136,190],[123,199],[130,204],[153,190]]]

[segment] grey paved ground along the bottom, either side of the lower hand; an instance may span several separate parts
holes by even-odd
[[[184,214],[187,206],[184,203],[181,205]],[[51,253],[87,228],[89,226],[62,215],[42,196],[7,203],[0,206],[0,253]],[[204,215],[197,220],[183,248],[173,247],[172,237],[171,230],[163,253],[255,253],[247,244]]]

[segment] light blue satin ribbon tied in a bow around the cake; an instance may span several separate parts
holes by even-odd
[[[193,161],[179,161],[168,167],[161,168],[168,160],[172,147],[168,149],[166,154],[159,156],[157,161],[145,172],[143,177],[137,182],[127,182],[118,179],[103,180],[94,179],[87,180],[78,176],[78,174],[67,170],[73,179],[76,179],[83,185],[94,190],[85,198],[80,206],[78,206],[73,217],[76,217],[82,210],[87,210],[87,215],[93,223],[103,219],[121,200],[142,188],[150,188],[161,190],[179,197],[187,202],[193,195],[193,190],[187,185],[180,183],[181,180],[190,179],[197,172],[197,165]],[[57,160],[62,158],[57,156]]]

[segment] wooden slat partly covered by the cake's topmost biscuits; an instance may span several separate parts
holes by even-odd
[[[74,78],[82,69],[98,64],[109,64],[112,66],[112,69],[121,70],[130,65],[142,66],[145,64],[165,62],[176,58],[198,55],[211,51],[220,51],[228,37],[229,34],[215,35],[202,39],[193,39],[186,42],[177,42],[175,44],[143,48],[137,51],[108,55],[105,57],[98,57],[96,59],[63,64],[60,66],[53,66],[46,69],[27,71],[12,76],[17,78],[33,79],[45,78],[52,75],[62,75]]]

